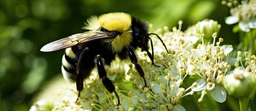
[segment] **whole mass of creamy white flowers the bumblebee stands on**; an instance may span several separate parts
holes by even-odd
[[[223,79],[233,73],[230,71],[231,65],[235,67],[239,65],[237,60],[241,62],[241,52],[238,53],[239,56],[236,59],[231,58],[229,53],[233,50],[232,45],[221,46],[223,39],[219,38],[216,42],[217,33],[213,33],[212,43],[204,43],[203,34],[189,32],[193,30],[184,33],[180,30],[181,25],[180,21],[178,29],[174,27],[173,31],[169,31],[168,27],[164,27],[166,32],[158,33],[166,44],[169,54],[166,53],[163,44],[156,37],[152,37],[154,63],[157,66],[152,66],[146,52],[138,51],[138,63],[145,72],[147,86],[142,86],[144,80],[132,64],[129,68],[115,62],[114,67],[109,70],[111,71],[109,73],[114,73],[114,75],[109,76],[118,83],[116,91],[121,105],[116,105],[117,99],[114,94],[107,92],[100,85],[100,80],[95,77],[97,73],[93,72],[94,74],[90,76],[93,78],[90,78],[90,81],[86,80],[78,104],[74,103],[77,92],[73,86],[62,91],[64,92],[62,101],[38,101],[30,111],[45,109],[54,111],[186,111],[181,105],[181,99],[185,96],[194,96],[194,92],[201,95],[195,99],[198,103],[203,102],[203,97],[207,93],[210,93],[215,101],[223,103],[227,96],[226,90],[229,90],[223,87]],[[218,24],[213,25],[220,28]],[[256,56],[251,56],[251,59],[249,61],[249,58],[246,58],[249,65],[243,70],[255,75]],[[194,83],[191,84],[189,81]],[[228,87],[232,86],[228,79],[224,80],[224,83],[226,86],[228,84]]]

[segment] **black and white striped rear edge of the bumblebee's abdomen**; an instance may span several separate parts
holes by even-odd
[[[62,74],[65,80],[76,81],[76,62],[76,54],[71,48],[67,48],[62,56]]]

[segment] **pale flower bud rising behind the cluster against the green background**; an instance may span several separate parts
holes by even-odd
[[[211,42],[213,39],[213,33],[219,34],[221,25],[217,21],[204,19],[201,22],[195,24],[195,31],[198,34],[204,34],[204,42]]]

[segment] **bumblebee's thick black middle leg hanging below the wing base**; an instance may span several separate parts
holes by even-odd
[[[115,86],[112,83],[112,81],[107,77],[107,73],[104,68],[104,59],[100,55],[97,55],[96,62],[97,62],[98,74],[99,74],[101,81],[103,82],[103,85],[106,87],[106,89],[110,93],[115,93],[115,95],[118,99],[118,105],[120,105],[120,99],[119,99],[118,93],[115,90]]]

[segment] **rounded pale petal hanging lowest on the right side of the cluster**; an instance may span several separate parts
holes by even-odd
[[[211,91],[211,96],[215,101],[223,103],[226,101],[227,93],[223,86],[216,85],[215,89]]]

